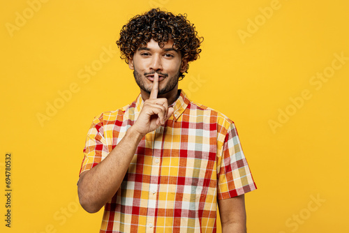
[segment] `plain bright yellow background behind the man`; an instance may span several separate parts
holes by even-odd
[[[97,114],[131,103],[139,89],[119,52],[90,80],[82,72],[101,65],[103,48],[117,50],[122,25],[152,6],[187,13],[205,38],[180,88],[237,125],[258,186],[246,195],[248,232],[349,231],[349,60],[334,61],[349,57],[348,1],[45,0],[35,11],[31,2],[3,2],[0,14],[1,193],[5,154],[13,155],[12,225],[1,194],[1,232],[98,232],[102,211],[76,200],[85,136]],[[332,61],[327,82],[314,80]],[[304,90],[311,98],[302,103]],[[40,124],[47,103],[61,108]],[[280,117],[286,110],[292,116]]]

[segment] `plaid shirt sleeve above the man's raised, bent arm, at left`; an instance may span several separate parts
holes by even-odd
[[[98,163],[101,163],[101,161],[107,156],[108,149],[104,137],[103,114],[94,118],[94,121],[89,128],[89,132],[87,133],[83,152],[84,158],[82,160],[80,174],[98,165]]]

